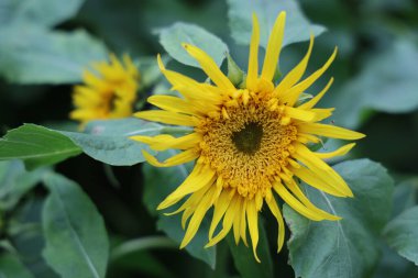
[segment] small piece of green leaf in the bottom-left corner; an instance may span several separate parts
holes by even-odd
[[[0,254],[0,278],[34,278],[16,255]]]

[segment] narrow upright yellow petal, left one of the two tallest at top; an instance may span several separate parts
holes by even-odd
[[[253,13],[253,32],[250,43],[249,70],[246,75],[246,88],[256,89],[258,79],[258,44],[260,44],[260,26],[255,13]]]

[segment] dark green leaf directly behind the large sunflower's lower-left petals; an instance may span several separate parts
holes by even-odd
[[[169,156],[174,151],[167,152]],[[160,154],[158,159],[168,157],[166,153]],[[168,235],[169,238],[180,244],[185,235],[182,229],[180,214],[164,215],[162,211],[156,211],[156,207],[170,192],[173,192],[189,175],[190,167],[179,165],[169,168],[157,168],[145,164],[143,166],[144,175],[144,196],[143,202],[148,212],[158,215],[157,227]],[[194,240],[186,246],[186,251],[194,257],[204,260],[211,268],[216,265],[216,247],[204,248],[208,242],[209,221],[204,219]]]

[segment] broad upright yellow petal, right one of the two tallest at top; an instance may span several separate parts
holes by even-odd
[[[286,12],[280,12],[274,23],[272,34],[268,38],[267,49],[263,63],[262,78],[271,81],[276,71],[278,57],[280,55],[283,36],[285,33]]]

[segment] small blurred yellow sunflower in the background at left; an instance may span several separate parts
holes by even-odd
[[[140,76],[131,58],[124,55],[122,64],[111,54],[110,63],[95,63],[92,68],[96,73],[82,75],[85,85],[74,88],[70,119],[82,125],[90,120],[130,116]]]

